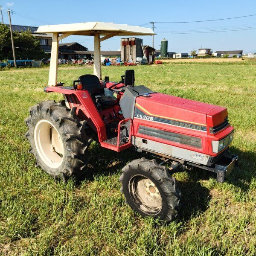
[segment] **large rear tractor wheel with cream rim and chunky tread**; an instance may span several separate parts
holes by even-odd
[[[69,108],[53,100],[40,102],[29,108],[25,119],[29,131],[25,134],[31,144],[29,150],[36,158],[36,166],[55,179],[64,181],[79,177],[90,160],[88,148],[92,138],[86,121],[76,116],[76,108]]]

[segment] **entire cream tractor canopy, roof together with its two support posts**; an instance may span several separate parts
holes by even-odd
[[[58,47],[59,41],[70,35],[90,35],[94,36],[94,64],[93,74],[102,79],[100,43],[116,35],[155,35],[152,29],[139,26],[128,26],[124,24],[88,22],[39,26],[38,33],[52,33],[52,50],[49,68],[48,86],[58,85]],[[102,37],[100,37],[102,35]]]

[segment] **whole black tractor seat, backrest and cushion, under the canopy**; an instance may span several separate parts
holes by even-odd
[[[97,76],[83,75],[79,76],[79,80],[81,80],[83,89],[87,90],[92,96],[93,101],[99,103],[102,108],[108,108],[117,104],[116,99],[104,95],[104,88]]]

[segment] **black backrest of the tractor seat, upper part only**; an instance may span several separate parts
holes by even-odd
[[[87,74],[79,76],[79,80],[82,81],[83,89],[88,90],[90,94],[101,95],[103,93],[103,88],[98,76]]]

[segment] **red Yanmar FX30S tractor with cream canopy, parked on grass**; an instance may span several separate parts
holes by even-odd
[[[94,22],[40,26],[38,32],[53,34],[44,90],[61,93],[64,100],[29,109],[26,137],[36,166],[66,181],[84,171],[93,140],[117,152],[146,152],[160,163],[144,157],[128,163],[120,176],[121,192],[132,209],[163,221],[174,219],[179,209],[173,173],[196,167],[215,172],[224,182],[238,158],[228,150],[234,128],[226,108],[134,86],[134,70],[126,70],[119,82],[100,80],[100,41],[113,35],[154,35],[151,29]],[[73,86],[64,86],[57,83],[58,41],[72,34],[94,35],[95,75],[85,74]]]

